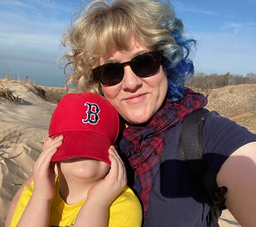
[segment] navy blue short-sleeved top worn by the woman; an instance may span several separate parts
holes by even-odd
[[[162,151],[160,171],[150,195],[143,226],[207,226],[210,205],[181,162],[181,123],[171,128]],[[256,141],[256,134],[216,112],[206,115],[203,128],[204,158],[216,177],[220,167],[239,147]]]

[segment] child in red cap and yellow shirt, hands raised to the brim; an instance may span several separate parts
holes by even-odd
[[[117,111],[98,94],[65,95],[11,226],[141,226],[140,203],[113,147],[118,128]]]

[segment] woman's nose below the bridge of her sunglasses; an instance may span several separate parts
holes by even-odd
[[[138,75],[133,73],[130,65],[125,65],[124,68],[124,75],[123,75],[123,89],[124,90],[136,90],[142,86],[142,79],[138,77]]]

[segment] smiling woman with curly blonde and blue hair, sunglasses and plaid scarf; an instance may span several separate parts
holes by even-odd
[[[183,118],[207,103],[184,89],[194,44],[171,5],[152,0],[92,2],[63,42],[70,47],[63,56],[72,68],[67,82],[104,95],[123,118],[118,145],[144,226],[207,226],[210,205],[178,145]],[[217,185],[228,189],[225,205],[240,225],[255,226],[256,135],[211,112],[202,137]]]

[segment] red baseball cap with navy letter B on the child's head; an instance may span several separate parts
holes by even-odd
[[[51,161],[88,157],[110,165],[108,150],[118,129],[118,112],[99,94],[66,94],[51,116],[49,137],[64,136]]]

